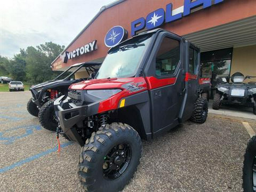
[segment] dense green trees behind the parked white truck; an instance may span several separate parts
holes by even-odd
[[[51,62],[63,49],[64,46],[46,42],[36,48],[20,49],[12,59],[0,56],[0,76],[33,84],[51,80],[59,73],[51,70]]]

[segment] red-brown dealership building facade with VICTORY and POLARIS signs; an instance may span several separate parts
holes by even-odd
[[[120,41],[153,28],[184,36],[201,49],[202,77],[210,77],[213,85],[237,71],[256,76],[256,0],[115,1],[101,8],[52,69],[103,61],[110,47],[106,41],[113,43],[119,34],[111,30],[114,26],[125,31]]]

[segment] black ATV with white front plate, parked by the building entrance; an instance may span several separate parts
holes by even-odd
[[[253,108],[256,115],[256,82],[243,83],[245,79],[255,78],[236,72],[231,76],[232,83],[223,78],[224,83],[216,86],[212,109],[218,110],[222,104],[242,105]]]

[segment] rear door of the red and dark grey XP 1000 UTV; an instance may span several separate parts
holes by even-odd
[[[194,110],[194,104],[198,97],[199,91],[199,67],[200,67],[200,50],[186,42],[185,56],[185,95],[179,115],[179,121],[184,122],[191,117]]]

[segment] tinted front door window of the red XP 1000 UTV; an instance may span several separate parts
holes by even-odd
[[[165,37],[156,55],[156,75],[174,74],[179,61],[179,41]]]

